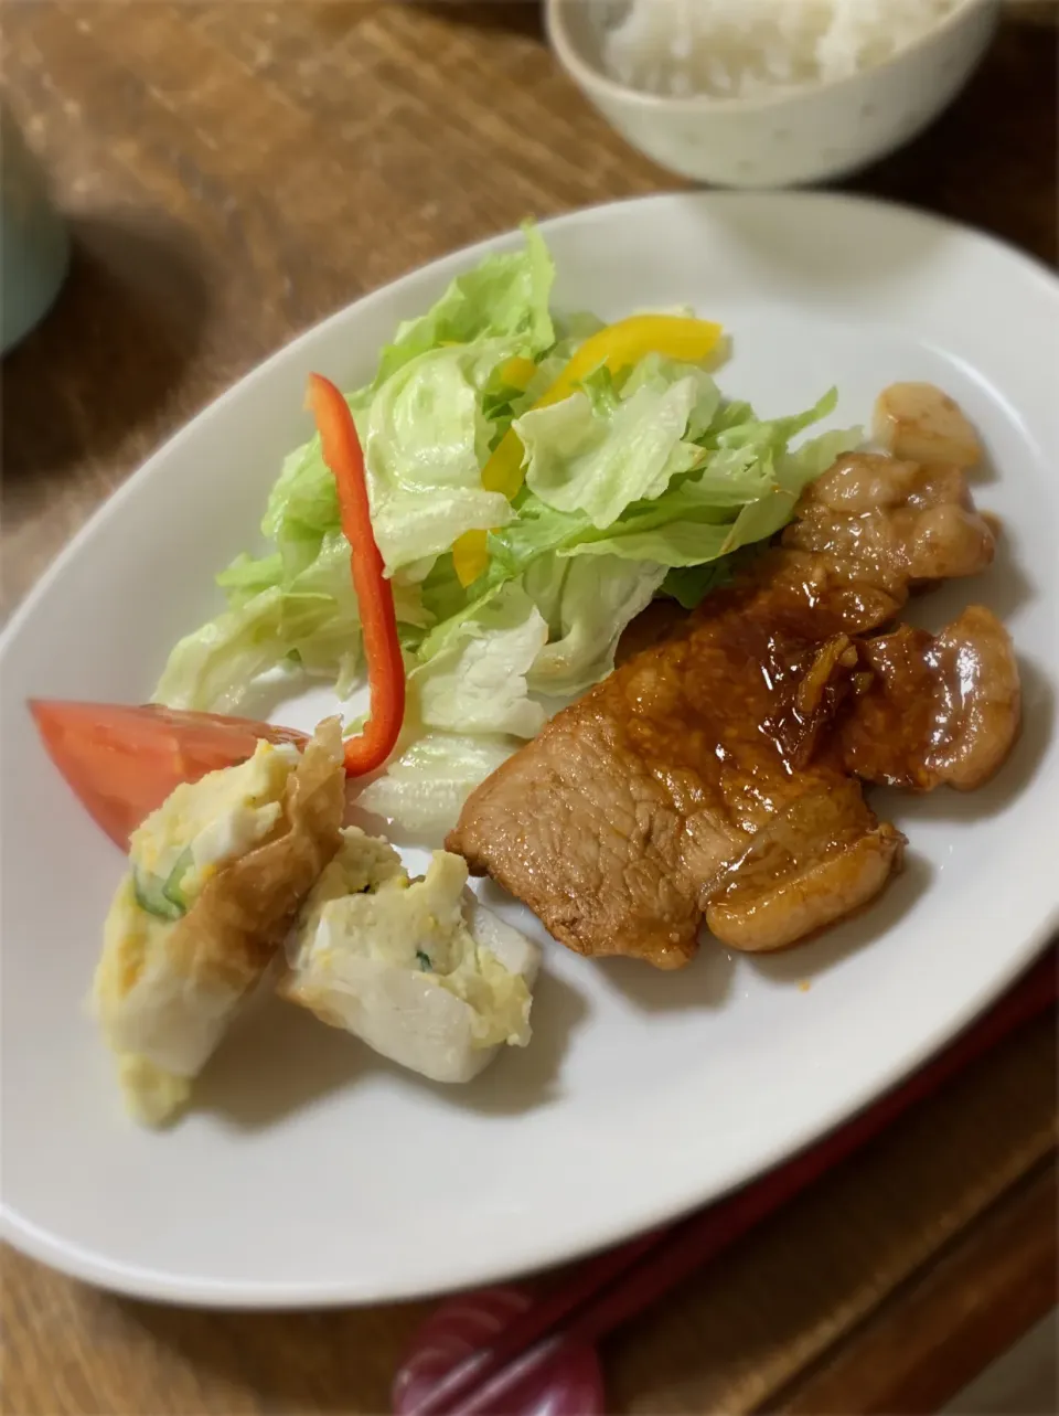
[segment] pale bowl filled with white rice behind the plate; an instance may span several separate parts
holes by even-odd
[[[983,58],[1000,0],[548,0],[552,48],[648,157],[723,187],[865,167]]]

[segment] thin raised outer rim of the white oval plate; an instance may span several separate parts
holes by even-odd
[[[1059,276],[1056,276],[1056,273],[1036,256],[1019,249],[1000,236],[992,235],[991,232],[968,227],[950,217],[941,217],[906,202],[882,200],[862,194],[831,191],[664,191],[624,197],[590,207],[580,207],[573,211],[545,218],[539,221],[538,225],[546,236],[556,228],[576,225],[580,221],[595,219],[623,208],[641,208],[653,205],[664,208],[665,205],[674,202],[677,205],[698,205],[706,210],[714,207],[784,207],[793,204],[800,207],[817,207],[821,211],[828,207],[858,207],[862,210],[875,210],[885,214],[886,218],[896,217],[902,221],[916,222],[923,228],[941,228],[957,234],[964,241],[970,238],[971,242],[990,248],[1008,261],[1014,259],[1015,263],[1022,268],[1024,275],[1039,282],[1042,293],[1059,304]],[[507,245],[513,244],[517,236],[517,229],[496,232],[470,245],[460,246],[456,251],[437,256],[425,265],[415,266],[411,270],[395,276],[392,280],[388,280],[385,285],[357,296],[354,300],[347,302],[330,314],[317,320],[314,324],[292,336],[292,338],[286,340],[272,353],[265,355],[265,358],[262,358],[258,364],[241,374],[234,382],[227,385],[215,398],[197,409],[190,419],[181,423],[173,433],[160,442],[159,446],[154,447],[150,455],[125,477],[120,486],[118,486],[115,491],[92,511],[84,525],[78,528],[78,531],[62,547],[62,549],[45,568],[42,575],[31,586],[21,603],[16,606],[7,624],[3,630],[0,630],[0,671],[3,671],[10,646],[21,634],[25,622],[35,613],[38,602],[47,596],[54,582],[62,576],[67,565],[79,555],[82,545],[95,534],[98,523],[110,515],[115,507],[120,506],[123,497],[132,494],[137,487],[140,487],[150,474],[156,460],[171,455],[180,442],[193,433],[201,419],[212,416],[217,411],[219,411],[225,401],[235,395],[236,389],[241,389],[245,384],[259,377],[265,377],[273,362],[279,361],[283,355],[299,347],[311,344],[327,327],[348,319],[354,309],[364,310],[371,306],[371,303],[384,300],[394,286],[406,279],[440,272],[452,275],[459,273],[460,269],[466,269],[487,252],[504,249]],[[1051,915],[1046,913],[1036,929],[1024,936],[1018,947],[1012,947],[1011,954],[1005,961],[1005,967],[995,971],[987,984],[978,987],[960,1010],[947,1015],[944,1025],[934,1028],[930,1038],[920,1042],[916,1048],[902,1051],[898,1061],[882,1069],[882,1075],[876,1073],[871,1083],[861,1086],[855,1093],[847,1093],[841,1104],[832,1106],[823,1116],[817,1113],[813,1121],[808,1121],[798,1129],[798,1134],[794,1140],[787,1137],[779,1144],[773,1143],[770,1147],[762,1147],[756,1161],[750,1161],[749,1164],[742,1163],[732,1167],[732,1174],[729,1174],[722,1185],[712,1188],[708,1187],[705,1192],[699,1191],[698,1195],[685,1195],[684,1199],[677,1202],[667,1199],[660,1205],[644,1205],[640,1211],[640,1216],[631,1223],[631,1226],[627,1218],[624,1221],[612,1218],[609,1222],[599,1225],[582,1243],[576,1246],[563,1240],[559,1240],[558,1245],[545,1245],[538,1240],[534,1246],[534,1257],[527,1257],[525,1262],[521,1259],[514,1260],[514,1266],[513,1260],[504,1262],[503,1259],[481,1259],[477,1263],[464,1264],[456,1279],[456,1283],[462,1289],[471,1287],[510,1279],[513,1274],[518,1276],[537,1272],[555,1263],[576,1262],[586,1255],[620,1243],[633,1235],[643,1233],[660,1225],[677,1222],[698,1208],[722,1201],[728,1194],[749,1184],[755,1178],[767,1174],[770,1170],[820,1141],[849,1117],[869,1106],[874,1100],[889,1093],[903,1078],[912,1075],[930,1056],[946,1048],[974,1021],[974,1018],[977,1018],[985,1008],[990,1007],[991,1003],[1000,998],[1011,987],[1011,984],[1048,947],[1058,929],[1059,902],[1052,906]],[[766,1151],[766,1158],[760,1158],[760,1155]],[[355,1274],[351,1274],[350,1279],[343,1283],[320,1283],[314,1280],[297,1283],[287,1280],[262,1283],[256,1280],[173,1279],[164,1272],[125,1263],[113,1264],[78,1243],[55,1239],[47,1231],[42,1231],[38,1225],[33,1223],[33,1221],[23,1218],[21,1214],[11,1209],[3,1194],[0,1194],[0,1236],[27,1256],[75,1279],[81,1279],[109,1291],[123,1293],[130,1297],[151,1298],[163,1303],[194,1304],[214,1310],[368,1306],[384,1301],[389,1303],[408,1298],[433,1297],[440,1293],[452,1291],[453,1287],[452,1279],[446,1280],[443,1277],[433,1277],[428,1281],[399,1281],[396,1284],[387,1286],[385,1291],[379,1291],[378,1286],[367,1289],[360,1286]]]

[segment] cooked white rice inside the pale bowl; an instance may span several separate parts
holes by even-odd
[[[746,98],[882,64],[977,0],[626,0],[603,65],[656,93]]]

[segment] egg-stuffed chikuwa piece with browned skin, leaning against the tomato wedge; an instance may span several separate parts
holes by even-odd
[[[181,783],[132,833],[92,1005],[139,1120],[188,1099],[338,850],[344,804],[331,718],[303,750],[262,739],[246,762]]]

